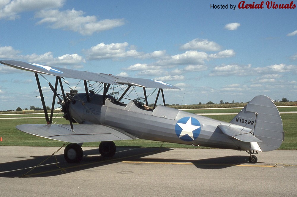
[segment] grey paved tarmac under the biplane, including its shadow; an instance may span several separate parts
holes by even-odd
[[[83,148],[69,164],[64,149],[49,157],[57,149],[0,146],[0,196],[297,196],[297,166],[284,166],[297,151],[260,152],[251,164],[235,150],[131,147],[106,159]]]

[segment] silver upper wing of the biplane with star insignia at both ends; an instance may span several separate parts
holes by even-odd
[[[98,74],[94,72],[77,71],[72,69],[64,69],[53,66],[45,66],[37,63],[26,63],[22,61],[14,60],[1,60],[1,64],[11,66],[17,69],[26,70],[30,72],[37,72],[42,74],[49,74],[58,77],[68,77],[73,79],[96,81],[109,84],[123,84],[123,85],[135,85],[145,88],[169,88],[169,89],[180,89],[169,83],[165,83],[158,80],[141,79],[132,77],[120,77],[109,74]]]

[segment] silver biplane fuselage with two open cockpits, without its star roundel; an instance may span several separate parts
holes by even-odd
[[[230,123],[160,105],[149,111],[137,107],[133,101],[124,105],[110,99],[103,104],[102,100],[103,96],[98,94],[90,94],[89,101],[85,94],[77,94],[69,105],[72,118],[79,124],[108,125],[140,139],[234,150],[251,149],[250,142],[231,139],[218,128],[218,125]],[[184,117],[193,117],[201,125],[200,134],[194,140],[184,141],[176,134],[176,124]]]

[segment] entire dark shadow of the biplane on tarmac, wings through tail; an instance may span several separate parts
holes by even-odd
[[[134,162],[163,162],[163,163],[192,163],[199,169],[223,169],[235,165],[249,163],[248,156],[226,156],[199,160],[143,158],[161,152],[170,151],[170,148],[139,148],[117,147],[113,158],[103,158],[98,155],[98,149],[84,150],[83,160],[80,163],[67,163],[63,154],[56,156],[30,156],[24,160],[0,163],[0,177],[48,177],[64,173],[91,169],[122,161]],[[37,167],[36,167],[37,166]]]

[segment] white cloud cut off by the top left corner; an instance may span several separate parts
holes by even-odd
[[[65,0],[1,0],[0,19],[15,20],[20,18],[18,14],[21,12],[59,8],[64,2]]]

